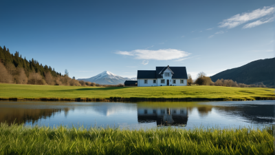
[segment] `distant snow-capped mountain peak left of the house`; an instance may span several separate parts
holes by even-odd
[[[137,80],[137,78],[124,78],[122,76],[115,75],[109,71],[104,71],[91,78],[78,80],[89,81],[91,83],[98,83],[100,85],[118,85],[119,83],[124,83],[126,80],[135,81]]]

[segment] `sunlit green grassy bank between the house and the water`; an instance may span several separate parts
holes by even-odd
[[[80,87],[59,85],[16,85],[0,83],[0,99],[36,100],[187,100],[245,101],[275,99],[274,89],[263,87],[162,86]]]

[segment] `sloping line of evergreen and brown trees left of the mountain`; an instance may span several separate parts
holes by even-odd
[[[28,61],[22,58],[19,52],[10,54],[8,48],[0,46],[0,83],[16,83],[31,85],[76,85],[76,86],[108,86],[99,85],[85,81],[78,81],[69,77],[69,72],[65,74],[56,72],[48,65],[39,64],[34,59]]]

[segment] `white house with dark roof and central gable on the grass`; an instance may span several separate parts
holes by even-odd
[[[186,67],[155,67],[155,70],[137,70],[137,87],[187,85]]]

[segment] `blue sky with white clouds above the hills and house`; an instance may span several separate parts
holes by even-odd
[[[274,57],[274,4],[4,0],[0,45],[77,79],[165,65],[211,76]]]

